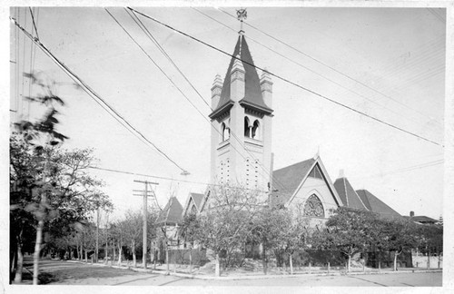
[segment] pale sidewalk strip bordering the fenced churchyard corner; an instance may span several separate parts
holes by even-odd
[[[173,264],[169,266],[169,272],[166,271],[166,265],[159,265],[156,266],[156,270],[154,270],[154,265],[153,264],[147,264],[147,269],[144,270],[142,267],[142,264],[138,263],[137,268],[133,268],[132,266],[127,266],[127,265],[112,265],[112,264],[104,264],[104,263],[85,263],[84,261],[80,260],[66,260],[67,262],[74,262],[74,263],[84,263],[87,265],[93,265],[93,266],[99,266],[99,267],[110,267],[113,269],[122,269],[122,270],[133,270],[136,272],[148,272],[148,273],[153,273],[153,274],[160,274],[160,275],[171,275],[175,277],[181,277],[181,278],[187,278],[187,279],[221,279],[221,280],[232,280],[232,279],[280,279],[280,278],[298,278],[298,277],[317,277],[317,276],[345,276],[345,275],[351,275],[351,276],[357,276],[357,275],[380,275],[380,274],[400,274],[400,273],[414,273],[414,272],[442,272],[442,269],[431,269],[431,270],[422,270],[422,269],[413,269],[413,268],[407,268],[407,269],[399,269],[397,271],[394,271],[392,269],[382,269],[382,270],[376,270],[376,269],[370,269],[366,268],[365,271],[362,270],[355,270],[355,271],[350,271],[349,273],[346,273],[345,270],[330,270],[328,272],[327,270],[311,270],[311,273],[309,273],[309,269],[305,270],[295,270],[294,274],[291,275],[290,273],[286,272],[280,272],[279,274],[276,273],[270,273],[267,275],[264,275],[263,273],[257,272],[257,271],[252,271],[252,272],[234,272],[234,271],[229,271],[229,272],[223,272],[221,277],[215,277],[214,272],[212,273],[203,273],[199,272],[200,270],[195,270],[197,272],[182,272],[183,270],[188,271],[187,268],[183,269],[180,267],[179,270],[173,270]],[[194,270],[193,270],[194,271]],[[227,275],[226,275],[227,274]]]

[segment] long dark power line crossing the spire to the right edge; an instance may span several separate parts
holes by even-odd
[[[284,78],[284,77],[281,77],[281,76],[278,75],[278,74],[271,73],[271,72],[269,72],[269,71],[263,69],[263,68],[260,67],[260,66],[251,64],[251,63],[249,63],[249,62],[247,62],[247,61],[242,60],[242,59],[239,58],[239,57],[233,56],[232,54],[228,54],[228,53],[226,53],[225,51],[223,51],[222,49],[219,49],[219,48],[213,46],[212,44],[208,44],[208,43],[206,43],[206,42],[203,42],[202,40],[200,40],[200,39],[198,39],[198,38],[196,38],[196,37],[193,37],[193,36],[190,35],[190,34],[186,34],[186,33],[182,32],[182,31],[180,31],[180,30],[174,28],[174,27],[171,26],[171,25],[166,25],[166,24],[164,24],[163,22],[161,22],[161,21],[159,21],[159,20],[153,18],[152,16],[144,15],[143,13],[141,13],[141,12],[139,12],[139,11],[137,11],[137,10],[131,8],[131,7],[128,7],[128,9],[132,10],[133,12],[135,12],[135,13],[137,13],[137,14],[139,14],[139,15],[143,15],[143,17],[146,17],[146,18],[148,18],[148,19],[151,19],[151,20],[153,20],[153,22],[155,22],[155,23],[157,23],[157,24],[159,24],[159,25],[163,25],[163,26],[165,26],[165,27],[167,27],[167,28],[173,30],[174,32],[177,32],[177,33],[179,33],[179,34],[183,34],[184,36],[187,36],[187,37],[191,38],[192,40],[194,40],[194,41],[196,41],[196,42],[198,42],[198,43],[204,44],[204,45],[206,45],[206,46],[208,46],[208,47],[210,47],[210,48],[212,48],[212,49],[214,49],[214,50],[216,50],[216,51],[218,51],[218,52],[220,52],[220,53],[222,53],[222,54],[226,54],[226,55],[231,56],[232,58],[234,58],[234,59],[236,59],[236,60],[242,61],[242,63],[244,63],[244,64],[249,64],[249,65],[251,65],[251,66],[253,66],[253,67],[255,67],[255,68],[261,70],[261,71],[264,72],[264,73],[269,73],[269,74],[271,74],[272,76],[274,76],[274,77],[280,79],[281,81],[283,81],[283,82],[285,82],[285,83],[290,83],[290,84],[292,84],[292,85],[294,85],[294,86],[300,88],[301,90],[304,90],[304,91],[306,91],[306,92],[312,93],[312,94],[314,94],[314,95],[316,95],[316,96],[321,97],[322,99],[325,99],[325,100],[327,100],[327,101],[330,101],[331,103],[335,103],[335,104],[337,104],[337,105],[339,105],[339,106],[341,106],[341,107],[344,107],[344,108],[346,108],[346,109],[349,109],[350,111],[352,111],[352,112],[354,112],[354,113],[359,113],[360,115],[364,115],[364,116],[366,116],[366,117],[369,117],[371,120],[374,120],[374,121],[376,121],[376,122],[380,122],[380,123],[382,123],[382,124],[388,125],[388,126],[390,126],[391,128],[396,129],[396,130],[398,130],[398,131],[400,131],[400,132],[405,132],[405,133],[407,133],[407,134],[410,134],[410,135],[412,135],[412,136],[414,136],[414,137],[417,137],[417,138],[419,138],[419,139],[421,139],[421,140],[424,140],[424,141],[426,141],[426,142],[430,142],[430,143],[433,143],[433,144],[435,144],[435,145],[439,145],[439,146],[444,147],[444,146],[441,145],[439,142],[432,141],[432,140],[430,140],[430,139],[427,139],[427,138],[425,138],[425,137],[420,136],[420,135],[417,134],[417,133],[410,132],[410,131],[407,131],[407,130],[405,130],[405,129],[402,129],[402,128],[400,128],[399,126],[396,126],[396,125],[394,125],[394,124],[392,124],[392,123],[390,123],[390,122],[385,122],[385,121],[383,121],[383,120],[380,120],[380,119],[377,118],[377,117],[371,116],[371,115],[369,115],[369,114],[367,114],[367,113],[363,113],[363,112],[361,112],[361,111],[359,111],[359,110],[356,110],[356,109],[354,109],[354,108],[352,108],[352,107],[350,107],[350,106],[348,106],[348,105],[346,105],[346,104],[343,104],[343,103],[337,102],[337,101],[335,101],[335,100],[332,100],[331,98],[329,98],[329,97],[327,97],[327,96],[325,96],[325,95],[323,95],[323,94],[321,94],[321,93],[317,93],[317,92],[315,92],[315,91],[312,91],[312,90],[309,89],[309,88],[306,88],[306,87],[304,87],[304,86],[301,86],[301,84],[299,84],[299,83],[291,82],[289,79],[286,79],[286,78]]]

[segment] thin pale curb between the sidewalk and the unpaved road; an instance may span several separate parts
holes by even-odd
[[[193,274],[186,274],[186,273],[180,273],[180,272],[173,272],[169,271],[167,272],[166,270],[152,270],[152,269],[140,269],[140,268],[131,268],[131,267],[123,267],[123,266],[116,266],[116,265],[106,265],[103,263],[85,263],[84,261],[79,261],[79,260],[66,260],[67,262],[73,262],[73,263],[83,263],[87,265],[94,265],[98,267],[109,267],[113,269],[119,269],[119,270],[133,270],[135,272],[143,272],[143,273],[153,273],[153,274],[159,274],[163,276],[174,276],[174,277],[180,277],[180,278],[186,278],[186,279],[205,279],[205,280],[210,280],[210,279],[218,279],[218,280],[234,280],[234,279],[280,279],[280,278],[301,278],[301,277],[327,277],[327,276],[366,276],[366,275],[389,275],[389,274],[400,274],[400,273],[429,273],[429,272],[442,272],[443,270],[440,269],[435,269],[435,270],[397,270],[397,271],[358,271],[358,272],[350,272],[350,273],[345,273],[345,272],[323,272],[323,273],[297,273],[297,274],[282,274],[282,275],[245,275],[245,276],[226,276],[226,277],[214,277],[214,276],[203,276],[203,275],[193,275]]]

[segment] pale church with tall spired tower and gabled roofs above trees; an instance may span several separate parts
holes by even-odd
[[[242,21],[241,15],[239,19]],[[270,73],[261,72],[259,75],[240,30],[227,73],[223,79],[217,74],[212,84],[212,186],[262,191],[269,205],[299,209],[321,222],[340,206],[400,217],[370,191],[355,191],[343,175],[331,181],[320,154],[271,171],[272,82]],[[186,213],[205,209],[210,189],[204,194],[190,193],[182,220]]]

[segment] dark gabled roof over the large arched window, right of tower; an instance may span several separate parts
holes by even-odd
[[[323,176],[323,181],[325,181],[330,189],[334,201],[336,201],[338,205],[341,205],[341,199],[331,183],[328,172],[326,171],[323,162],[321,162],[320,156],[273,171],[273,191],[271,192],[270,198],[271,205],[285,205],[289,203],[292,200],[292,197],[299,191],[299,188],[307,179],[309,173],[316,166],[319,167]]]

